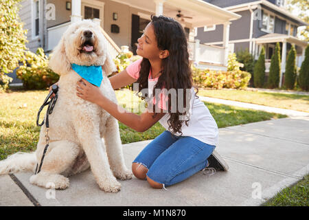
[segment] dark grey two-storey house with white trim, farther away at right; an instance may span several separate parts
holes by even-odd
[[[279,42],[282,57],[279,87],[284,80],[286,56],[291,45],[295,45],[297,51],[297,67],[304,61],[307,41],[297,38],[297,28],[308,23],[288,12],[284,6],[284,0],[204,0],[207,3],[217,5],[240,14],[242,17],[231,21],[229,48],[231,52],[249,50],[255,59],[258,59],[262,46],[266,55],[266,76],[271,65],[271,56],[275,52],[275,44]],[[198,28],[197,38],[203,45],[222,46],[223,25],[207,25]]]

